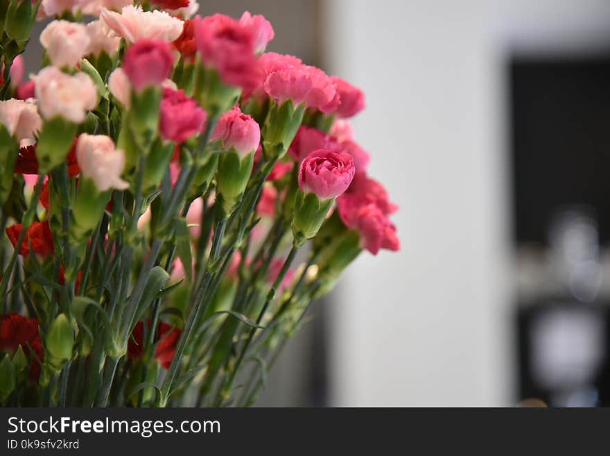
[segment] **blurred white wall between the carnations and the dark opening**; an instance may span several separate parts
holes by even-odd
[[[334,403],[511,405],[505,57],[595,51],[610,2],[324,6],[326,67],[367,93],[356,137],[401,205],[403,242],[360,257],[336,294]]]

